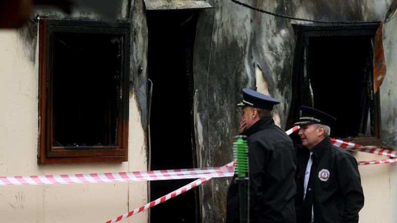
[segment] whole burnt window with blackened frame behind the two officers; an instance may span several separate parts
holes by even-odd
[[[288,126],[301,105],[331,114],[331,137],[380,143],[379,91],[373,87],[373,38],[379,24],[295,26],[293,96]],[[299,44],[299,46],[298,46]],[[299,137],[291,136],[295,143]]]

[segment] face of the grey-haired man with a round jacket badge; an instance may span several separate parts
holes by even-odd
[[[301,137],[302,146],[311,149],[323,140],[324,131],[320,129],[321,126],[316,128],[313,124],[306,124],[300,127],[298,135]]]

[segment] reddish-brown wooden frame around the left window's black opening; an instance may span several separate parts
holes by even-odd
[[[122,37],[121,100],[117,146],[57,147],[52,142],[52,44],[54,32],[116,34]],[[128,161],[130,23],[39,20],[39,164]]]

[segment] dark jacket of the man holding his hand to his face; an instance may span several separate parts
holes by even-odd
[[[291,139],[271,117],[261,118],[242,134],[248,136],[250,222],[295,223],[296,154]],[[239,217],[238,185],[232,181],[226,223],[239,223]]]

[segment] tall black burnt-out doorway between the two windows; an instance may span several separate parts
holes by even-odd
[[[195,10],[148,11],[148,74],[152,81],[150,169],[196,167],[193,131],[193,47]],[[193,180],[150,182],[150,200]],[[195,223],[198,190],[193,189],[150,210],[151,223]],[[177,211],[176,211],[177,210]]]

